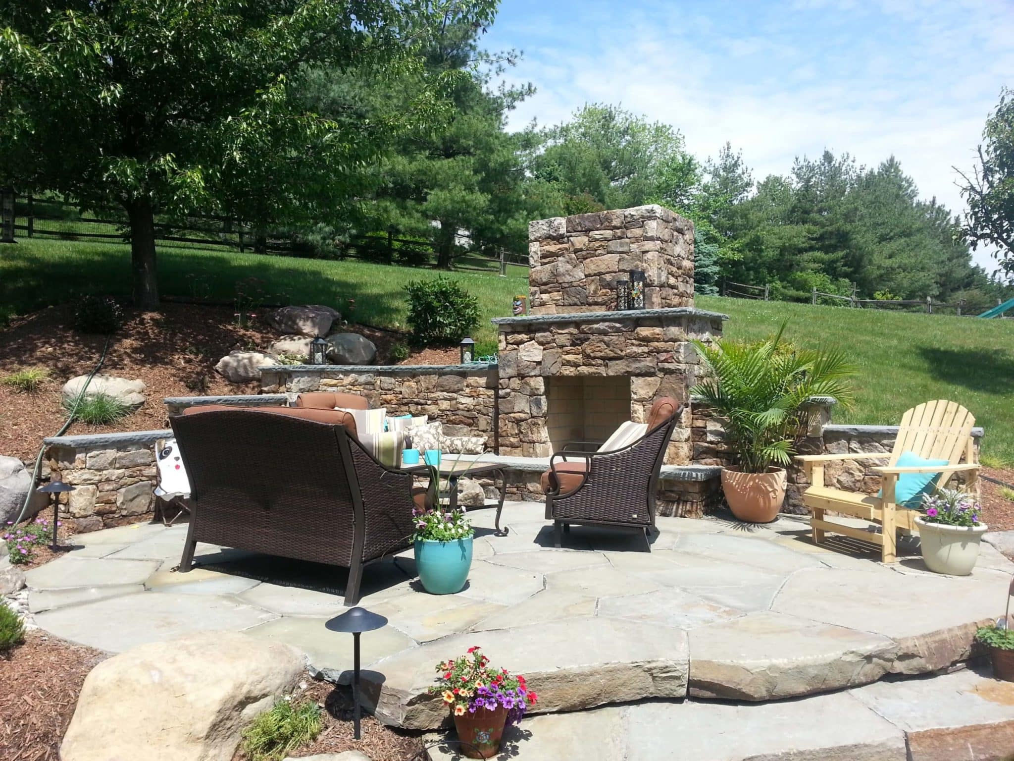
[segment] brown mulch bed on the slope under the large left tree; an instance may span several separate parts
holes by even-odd
[[[344,330],[373,341],[378,364],[389,363],[391,346],[406,338],[365,326]],[[165,397],[259,394],[259,384],[230,384],[215,372],[215,363],[233,349],[263,351],[278,337],[270,326],[258,322],[240,328],[228,306],[163,303],[158,312],[128,308],[100,371],[140,378],[148,387],[147,402],[113,425],[76,422],[67,434],[165,428]],[[91,371],[104,342],[104,336],[74,331],[69,306],[33,313],[0,331],[0,377],[29,367],[45,367],[50,372],[50,378],[33,394],[0,386],[0,455],[34,460],[43,438],[54,435],[66,419],[60,389],[71,377]],[[404,363],[457,362],[457,356],[456,348],[427,349]]]

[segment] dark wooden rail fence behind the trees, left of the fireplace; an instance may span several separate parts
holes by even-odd
[[[13,198],[13,234],[25,237],[49,237],[64,240],[111,240],[127,243],[129,226],[126,214],[117,209],[89,209],[57,198],[15,196]],[[310,245],[297,234],[258,228],[245,221],[214,215],[192,215],[155,220],[155,239],[195,248],[223,248],[244,253],[279,256],[313,257]],[[402,264],[412,267],[434,267],[437,253],[427,240],[400,237],[394,230],[386,233],[354,235],[336,241],[334,252],[325,258],[359,259],[364,261]],[[506,276],[508,266],[528,267],[527,258],[501,250],[499,256],[482,251],[459,252],[454,269],[472,272],[499,270]]]

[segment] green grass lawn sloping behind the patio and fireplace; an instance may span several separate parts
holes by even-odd
[[[125,246],[22,239],[0,246],[0,316],[23,314],[69,300],[83,291],[128,295],[130,254]],[[482,327],[477,340],[494,337],[489,319],[510,314],[512,297],[527,292],[524,268],[509,268],[508,277],[455,272],[480,300]],[[324,303],[368,325],[405,328],[402,286],[433,277],[428,270],[288,257],[159,249],[162,293],[204,296],[230,301],[236,283],[248,277],[264,281],[266,300],[273,303]],[[779,301],[700,296],[702,308],[729,316],[725,335],[756,339],[771,335],[785,320],[786,335],[800,345],[848,347],[860,368],[857,404],[836,410],[835,420],[896,423],[910,407],[929,399],[952,399],[967,407],[987,431],[984,453],[993,464],[1014,462],[1014,321],[979,320],[939,315]]]

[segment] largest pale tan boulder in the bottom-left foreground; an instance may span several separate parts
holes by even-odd
[[[235,632],[142,644],[84,680],[62,761],[229,761],[303,673],[294,647]]]

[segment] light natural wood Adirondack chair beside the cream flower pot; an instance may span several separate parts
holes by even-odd
[[[959,472],[966,473],[966,488],[979,488],[979,463],[971,438],[971,428],[975,418],[964,407],[955,402],[938,399],[915,407],[901,417],[894,448],[886,453],[855,453],[848,455],[804,455],[797,457],[806,470],[811,486],[803,492],[803,503],[813,514],[810,528],[814,544],[824,540],[824,533],[843,534],[853,539],[880,545],[883,562],[892,563],[896,559],[897,532],[914,533],[916,510],[898,507],[894,503],[894,489],[901,473],[937,473],[937,487],[946,486],[950,478]],[[924,459],[946,460],[947,466],[923,466],[898,468],[897,459],[904,452],[912,452]],[[961,463],[962,457],[964,462]],[[881,495],[862,494],[824,485],[824,465],[841,460],[888,461],[885,467],[872,468],[883,476]],[[845,526],[824,517],[825,511],[854,515],[865,521],[880,524],[882,532],[872,532]]]

